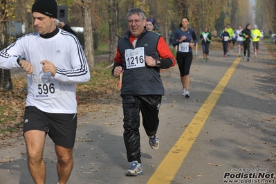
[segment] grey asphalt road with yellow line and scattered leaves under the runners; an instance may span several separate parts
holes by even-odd
[[[230,57],[223,57],[222,50],[211,50],[208,62],[201,58],[199,50],[190,71],[190,98],[181,94],[177,66],[161,72],[165,96],[158,150],[149,147],[140,127],[144,174],[125,176],[129,163],[122,138],[122,105],[103,104],[101,111],[79,117],[75,165],[68,184],[217,184],[230,183],[226,180],[234,177],[236,183],[264,179],[275,183],[275,60],[262,44],[250,62],[237,57],[236,48]],[[33,183],[24,139],[1,143],[7,146],[0,151],[0,183]],[[48,137],[44,158],[46,183],[55,184],[57,159]]]

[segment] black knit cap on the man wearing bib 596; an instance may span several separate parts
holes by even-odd
[[[57,18],[57,2],[55,0],[36,0],[33,3],[33,12],[40,12],[48,17]]]

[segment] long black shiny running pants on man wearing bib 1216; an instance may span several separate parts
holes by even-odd
[[[159,125],[159,108],[162,95],[138,95],[122,96],[122,108],[124,112],[124,140],[127,149],[127,160],[132,162],[140,160],[140,111],[142,113],[142,125],[147,136],[154,136]]]

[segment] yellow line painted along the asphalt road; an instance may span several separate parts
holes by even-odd
[[[151,178],[149,178],[147,184],[167,184],[173,180],[240,60],[240,57],[234,60],[232,66],[226,71],[207,100],[203,102],[201,109],[196,113],[196,116],[194,116],[187,129],[185,129],[174,147],[165,156]]]

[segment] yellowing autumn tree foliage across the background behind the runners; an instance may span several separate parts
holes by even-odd
[[[33,0],[7,0],[15,4],[15,8],[9,8],[10,19],[24,22],[27,32],[35,31],[30,8]],[[276,28],[276,1],[255,0],[256,6],[251,7],[252,0],[116,0],[119,5],[119,33],[120,37],[127,30],[126,14],[129,8],[139,7],[145,10],[148,17],[156,19],[156,25],[160,33],[166,38],[168,30],[176,30],[181,17],[190,18],[190,27],[199,34],[205,26],[209,30],[222,30],[226,24],[237,28],[239,24],[243,27],[250,24],[257,24],[258,28],[273,30]],[[91,0],[92,27],[98,35],[99,44],[109,43],[109,0]],[[68,6],[68,24],[70,26],[84,25],[81,13],[80,0],[57,0],[59,5]],[[24,6],[22,6],[24,4]],[[13,12],[12,12],[13,11]],[[12,16],[11,16],[12,15]],[[15,16],[16,15],[16,16]],[[255,16],[254,16],[255,15]],[[94,47],[95,48],[95,47]]]

